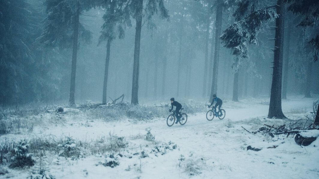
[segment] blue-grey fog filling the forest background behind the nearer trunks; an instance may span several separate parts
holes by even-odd
[[[77,3],[61,1],[67,11],[54,9],[59,8],[54,4],[56,2],[1,2],[2,105],[69,100],[74,51],[73,21]],[[75,103],[101,103],[103,89],[107,101],[124,94],[124,100],[130,102],[137,24],[132,15],[133,8],[127,10],[126,7],[130,6],[130,1],[79,2]],[[159,2],[163,4],[155,3],[155,10],[147,7],[149,4],[146,1],[143,4],[139,74],[138,81],[134,82],[138,85],[140,103],[169,103],[171,97],[208,102],[212,93],[224,100],[233,100],[234,93],[238,100],[270,97],[276,15],[262,21],[254,39],[242,43],[247,47],[245,57],[234,52],[240,45],[227,48],[227,42],[220,37],[233,23],[236,24],[249,13],[242,12],[239,17],[236,8],[240,5],[243,6],[240,8],[254,11],[276,1],[256,1],[255,4],[243,1],[248,2],[247,7],[233,1]],[[218,3],[222,10],[216,9]],[[309,43],[318,26],[300,26],[303,17],[293,14],[288,6],[284,16],[282,49],[283,93],[318,94],[319,65],[314,58],[317,52],[313,52],[313,45]],[[110,8],[115,8],[114,14]],[[271,10],[275,11],[275,8]],[[52,16],[54,13],[57,15]],[[108,14],[111,15],[108,17]],[[50,20],[54,17],[58,18]],[[111,39],[108,78],[107,87],[103,88],[108,38]],[[234,76],[238,77],[238,89],[234,89]]]

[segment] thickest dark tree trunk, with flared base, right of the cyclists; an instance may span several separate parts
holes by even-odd
[[[274,65],[272,72],[271,94],[269,103],[268,118],[283,119],[286,116],[281,109],[281,79],[282,79],[282,61],[284,50],[284,29],[285,29],[285,5],[283,0],[278,0],[276,5],[277,14],[276,32],[275,32],[275,52]]]

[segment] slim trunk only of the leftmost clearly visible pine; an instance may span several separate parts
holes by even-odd
[[[75,106],[74,93],[75,93],[75,73],[76,73],[76,69],[77,69],[79,16],[80,16],[80,3],[78,1],[77,2],[77,10],[75,12],[75,17],[74,17],[71,85],[70,85],[70,99],[69,99],[70,106]]]

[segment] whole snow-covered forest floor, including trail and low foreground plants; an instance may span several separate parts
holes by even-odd
[[[318,98],[289,96],[289,100],[283,100],[286,120],[267,118],[268,100],[225,101],[223,120],[215,117],[208,121],[206,113],[188,114],[185,125],[172,127],[167,126],[166,118],[105,121],[88,120],[79,113],[65,114],[63,122],[52,123],[49,120],[53,114],[41,114],[46,122],[36,125],[32,133],[1,135],[0,143],[72,137],[83,150],[80,157],[61,157],[48,151],[41,156],[46,172],[56,178],[319,178],[319,139],[309,146],[299,146],[293,134],[271,137],[243,129],[253,132],[264,124],[289,126],[310,116]],[[114,136],[117,148],[107,142]],[[114,148],[113,152],[103,151],[103,145]],[[261,150],[247,150],[249,145]],[[30,168],[0,165],[7,171],[0,178],[31,176],[39,168],[40,158],[36,159],[36,165]],[[112,168],[108,162],[119,165]]]

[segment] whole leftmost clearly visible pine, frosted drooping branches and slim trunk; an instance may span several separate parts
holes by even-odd
[[[47,18],[39,40],[48,46],[68,48],[72,45],[72,65],[69,104],[75,105],[75,76],[78,53],[78,37],[90,43],[91,32],[79,22],[81,12],[96,6],[95,1],[46,0]],[[73,33],[70,33],[72,31]],[[71,44],[72,42],[72,44]]]

